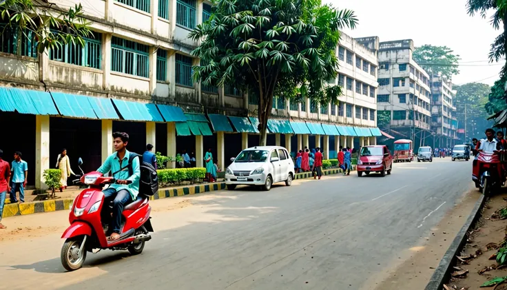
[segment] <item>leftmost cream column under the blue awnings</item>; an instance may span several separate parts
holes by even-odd
[[[50,169],[50,116],[35,115],[35,188],[48,189],[44,170]]]

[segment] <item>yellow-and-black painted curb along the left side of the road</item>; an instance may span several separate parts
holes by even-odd
[[[355,167],[352,167],[355,169]],[[333,168],[322,171],[322,174],[331,175],[341,173],[341,169]],[[311,172],[303,172],[296,174],[294,179],[312,178]],[[181,185],[176,187],[165,187],[158,189],[157,194],[150,196],[150,200],[157,200],[161,198],[169,198],[174,196],[185,196],[192,194],[202,194],[209,191],[217,191],[225,189],[225,182],[220,181],[216,183],[200,183],[194,185]],[[59,210],[68,210],[72,206],[74,199],[79,195],[82,189],[77,186],[68,187],[63,192],[56,192],[56,197],[50,200],[37,200],[34,199],[37,195],[25,196],[25,203],[7,203],[9,198],[6,198],[6,205],[3,208],[3,218],[10,216],[24,216],[27,214],[37,214],[42,212],[51,212]]]

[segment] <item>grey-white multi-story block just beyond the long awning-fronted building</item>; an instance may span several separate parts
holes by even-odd
[[[378,114],[391,119],[389,129],[412,134],[430,130],[431,83],[426,73],[412,58],[411,39],[381,42],[378,52]]]

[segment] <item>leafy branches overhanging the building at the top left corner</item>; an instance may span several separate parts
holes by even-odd
[[[0,21],[6,31],[18,34],[17,53],[21,53],[21,42],[24,37],[37,41],[37,50],[55,49],[67,43],[85,45],[83,37],[92,37],[88,23],[82,17],[81,4],[65,12],[53,9],[55,4],[48,0],[6,0],[0,1]],[[32,37],[29,37],[29,34]]]

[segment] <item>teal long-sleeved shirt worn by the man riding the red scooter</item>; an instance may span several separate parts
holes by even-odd
[[[111,154],[104,161],[104,164],[97,169],[101,174],[107,174],[108,172],[114,173],[125,167],[121,172],[114,174],[115,179],[121,180],[132,180],[130,185],[118,185],[116,183],[110,185],[111,188],[116,189],[116,191],[120,191],[121,189],[127,189],[130,192],[130,196],[132,196],[132,200],[136,200],[137,195],[139,194],[139,178],[141,178],[141,169],[139,169],[139,158],[134,158],[132,160],[132,176],[129,176],[129,169],[127,168],[127,164],[129,163],[130,152],[125,150],[125,156],[121,160],[117,156],[117,152]]]

